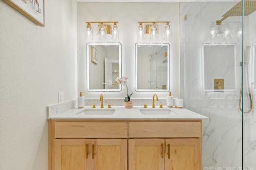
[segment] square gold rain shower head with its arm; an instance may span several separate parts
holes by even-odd
[[[242,16],[243,8],[242,8],[242,0],[238,2],[233,8],[231,8],[226,14],[224,14],[221,20],[216,21],[216,25],[220,25],[222,21],[224,21],[228,17],[234,16]],[[252,12],[256,11],[256,0],[244,0],[244,16],[248,16],[252,14]]]

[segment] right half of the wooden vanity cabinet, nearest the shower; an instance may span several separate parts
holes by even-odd
[[[201,170],[201,121],[129,122],[129,170]]]

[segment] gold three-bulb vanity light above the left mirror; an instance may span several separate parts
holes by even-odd
[[[86,35],[87,40],[92,40],[92,23],[98,24],[98,35],[100,40],[106,40],[106,35],[111,34],[113,40],[119,39],[117,21],[104,21],[104,22],[86,22]],[[111,25],[110,25],[111,24]]]

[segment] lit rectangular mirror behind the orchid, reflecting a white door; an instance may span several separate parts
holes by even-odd
[[[87,43],[87,90],[89,92],[121,91],[113,86],[121,75],[120,43]]]

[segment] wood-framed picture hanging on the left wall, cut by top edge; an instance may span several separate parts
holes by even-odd
[[[39,26],[44,26],[44,0],[3,0]]]

